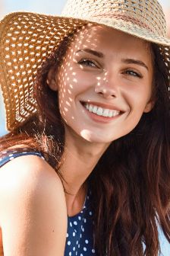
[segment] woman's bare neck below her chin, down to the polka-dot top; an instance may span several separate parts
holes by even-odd
[[[86,181],[99,158],[109,145],[87,142],[80,136],[65,134],[65,152],[61,159],[60,174],[64,178],[63,184],[68,209],[83,203],[87,192]]]

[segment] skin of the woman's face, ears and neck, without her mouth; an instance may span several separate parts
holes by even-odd
[[[76,210],[78,199],[86,194],[82,184],[105,149],[131,132],[142,114],[152,109],[152,59],[149,43],[112,28],[89,25],[71,43],[59,72],[50,70],[49,86],[58,91],[65,120],[65,162],[60,171],[72,194],[66,194],[71,215],[80,210]],[[90,117],[81,101],[106,104],[122,114],[103,123],[95,114]]]

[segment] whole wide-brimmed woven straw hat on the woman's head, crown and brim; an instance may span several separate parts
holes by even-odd
[[[59,17],[8,14],[0,23],[0,74],[8,130],[36,112],[33,83],[46,56],[65,36],[89,22],[159,44],[170,72],[170,40],[157,0],[68,0]]]

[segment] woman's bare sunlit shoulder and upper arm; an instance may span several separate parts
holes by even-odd
[[[5,256],[63,256],[65,192],[58,174],[26,155],[0,168],[0,225]]]

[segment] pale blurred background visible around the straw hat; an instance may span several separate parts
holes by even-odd
[[[34,11],[46,14],[61,14],[66,0],[0,0],[0,18],[11,11]],[[170,0],[159,0],[165,11],[170,37]],[[0,136],[7,133],[5,130],[5,110],[0,91]]]

